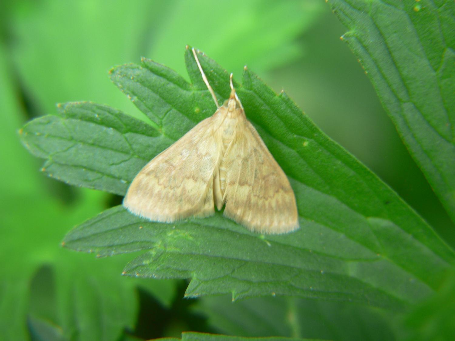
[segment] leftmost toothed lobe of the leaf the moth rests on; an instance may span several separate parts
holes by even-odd
[[[136,169],[169,145],[142,121],[93,103],[59,105],[20,130],[25,145],[47,158],[42,171],[68,184],[123,195]],[[145,137],[145,138],[144,138]],[[142,143],[152,142],[152,148]]]

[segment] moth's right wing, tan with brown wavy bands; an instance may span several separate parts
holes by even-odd
[[[298,229],[288,178],[248,120],[228,147],[221,167],[226,168],[225,216],[259,233]]]

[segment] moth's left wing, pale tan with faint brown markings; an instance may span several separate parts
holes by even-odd
[[[201,121],[145,165],[123,205],[152,221],[212,215],[213,173],[219,163],[213,123],[214,116]]]

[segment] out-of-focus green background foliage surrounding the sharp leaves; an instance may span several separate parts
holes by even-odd
[[[62,250],[59,243],[72,226],[118,204],[120,198],[45,178],[39,173],[41,161],[28,154],[16,133],[28,119],[54,113],[56,103],[75,100],[106,103],[147,120],[110,84],[107,71],[146,56],[186,75],[183,48],[191,44],[235,75],[246,64],[274,90],[285,89],[324,132],[454,246],[454,225],[354,55],[340,42],[345,31],[328,5],[311,0],[3,0],[0,339],[142,340],[180,337],[182,331],[334,340],[430,340],[437,333],[444,340],[453,335],[447,317],[452,314],[453,276],[433,300],[422,302],[406,318],[314,301],[228,302],[223,309],[223,297],[219,302],[182,301],[182,282],[121,277],[123,265],[134,256],[94,260]],[[269,322],[258,307],[280,309],[283,323],[266,328]],[[241,315],[254,328],[236,321]],[[296,322],[308,321],[305,316],[312,316],[314,324]],[[349,316],[346,323],[359,329],[342,333],[346,324],[335,323],[339,316]],[[362,328],[374,332],[362,333]]]

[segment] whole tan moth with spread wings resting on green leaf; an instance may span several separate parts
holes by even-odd
[[[133,214],[162,222],[211,216],[214,206],[225,206],[224,216],[251,231],[280,234],[298,229],[288,178],[247,120],[232,73],[231,94],[220,106],[194,48],[192,53],[217,110],[142,168],[123,205]]]

